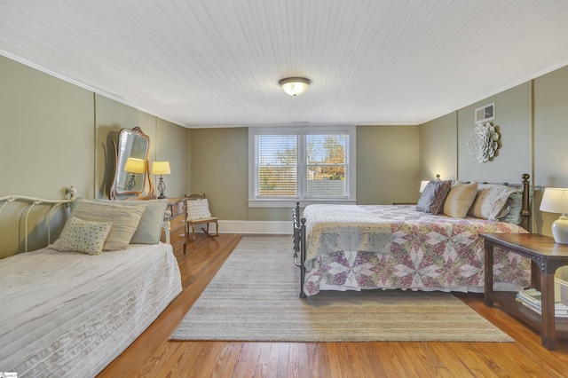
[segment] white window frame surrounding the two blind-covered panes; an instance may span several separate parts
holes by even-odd
[[[342,197],[308,197],[305,135],[345,134],[345,186],[346,195]],[[298,172],[297,196],[294,198],[256,198],[256,136],[257,135],[296,135],[298,136]],[[260,126],[248,128],[248,207],[249,208],[291,208],[300,202],[302,207],[312,203],[354,204],[356,199],[357,161],[356,161],[357,128],[353,125],[328,126]]]

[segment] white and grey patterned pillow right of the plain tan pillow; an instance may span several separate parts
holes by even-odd
[[[517,189],[507,185],[477,185],[477,197],[469,209],[469,216],[497,220],[509,214],[509,197],[518,193]]]

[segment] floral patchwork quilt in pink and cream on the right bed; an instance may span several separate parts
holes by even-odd
[[[304,293],[402,288],[483,292],[480,232],[526,233],[517,224],[453,218],[408,205],[310,205]],[[495,248],[495,290],[528,287],[530,260]]]

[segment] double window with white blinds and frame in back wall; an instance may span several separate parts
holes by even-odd
[[[249,206],[355,201],[355,127],[249,128]]]

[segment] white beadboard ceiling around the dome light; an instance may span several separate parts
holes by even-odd
[[[418,124],[567,65],[568,1],[0,0],[0,54],[186,127]]]

